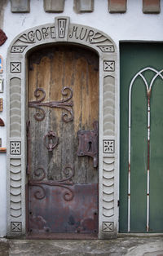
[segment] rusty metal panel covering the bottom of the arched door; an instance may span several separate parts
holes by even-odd
[[[97,234],[98,185],[30,182],[29,233]]]

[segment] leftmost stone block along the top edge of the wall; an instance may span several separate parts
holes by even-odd
[[[12,12],[29,12],[30,1],[29,0],[11,0]]]

